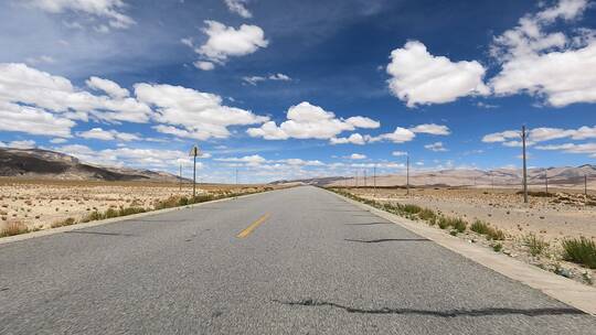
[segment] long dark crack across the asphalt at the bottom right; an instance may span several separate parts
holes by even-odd
[[[525,315],[525,316],[543,316],[543,315],[583,315],[584,312],[572,307],[550,307],[550,309],[505,309],[505,307],[492,307],[492,309],[477,309],[477,310],[447,310],[447,311],[432,311],[432,310],[418,310],[418,309],[361,309],[345,306],[334,302],[317,301],[312,299],[298,300],[298,301],[280,301],[273,300],[273,302],[280,303],[289,306],[308,306],[308,307],[334,307],[343,310],[348,313],[358,314],[401,314],[401,315],[426,315],[437,317],[458,317],[458,316],[491,316],[491,315]]]

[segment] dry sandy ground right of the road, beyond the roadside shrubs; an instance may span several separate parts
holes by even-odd
[[[553,196],[530,196],[529,204],[513,188],[350,188],[360,196],[379,201],[396,201],[461,217],[468,221],[481,219],[512,236],[534,233],[545,240],[563,237],[596,238],[596,196],[568,190],[551,190]]]

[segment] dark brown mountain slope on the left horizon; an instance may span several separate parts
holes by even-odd
[[[179,181],[178,176],[167,172],[92,165],[60,152],[13,148],[0,148],[0,176],[79,181]]]

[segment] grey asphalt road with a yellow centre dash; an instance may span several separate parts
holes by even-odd
[[[596,317],[297,187],[0,245],[0,334],[596,334]]]

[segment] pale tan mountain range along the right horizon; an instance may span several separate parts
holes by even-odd
[[[359,175],[358,182],[355,177],[344,176],[326,176],[307,179],[291,182],[301,182],[306,184],[319,186],[372,186],[374,181],[372,170],[368,170],[368,176]],[[588,176],[588,187],[596,187],[596,165],[582,166],[565,166],[565,168],[549,168],[549,169],[529,169],[528,183],[530,185],[544,185],[545,177],[549,177],[549,184],[552,186],[582,186],[584,185],[584,176]],[[280,181],[288,182],[288,181]],[[280,183],[277,182],[277,183]],[[483,170],[440,170],[440,171],[424,171],[412,172],[409,175],[409,184],[414,186],[519,186],[522,182],[521,169],[497,169],[490,171]],[[377,175],[377,186],[400,186],[406,184],[405,174]]]

